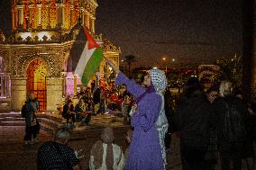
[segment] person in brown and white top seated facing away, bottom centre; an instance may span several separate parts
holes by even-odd
[[[90,170],[122,170],[124,156],[122,148],[114,142],[114,131],[106,127],[102,130],[101,140],[97,140],[91,149],[89,160]]]

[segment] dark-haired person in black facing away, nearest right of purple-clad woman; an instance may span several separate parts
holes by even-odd
[[[206,170],[206,148],[211,124],[210,102],[197,77],[187,80],[185,98],[174,115],[180,133],[180,155],[183,170]]]

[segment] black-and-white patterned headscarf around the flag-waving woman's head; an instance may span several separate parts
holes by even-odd
[[[167,86],[165,73],[160,69],[151,69],[149,73],[151,76],[151,83],[154,85],[156,92],[165,90]]]

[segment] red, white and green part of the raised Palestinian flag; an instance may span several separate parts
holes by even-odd
[[[96,43],[96,40],[87,32],[85,27],[82,27],[81,30],[86,35],[87,43],[78,60],[75,74],[80,77],[83,85],[87,86],[88,82],[96,73],[96,69],[99,67],[104,55],[103,50]]]

